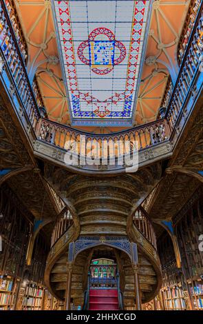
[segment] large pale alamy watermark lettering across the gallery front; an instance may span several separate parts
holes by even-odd
[[[138,170],[138,141],[97,141],[80,135],[77,141],[66,141],[65,150],[66,165],[118,165],[126,172]]]

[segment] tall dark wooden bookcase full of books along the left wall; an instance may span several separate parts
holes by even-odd
[[[43,276],[49,248],[43,236],[37,236],[32,263],[26,265],[32,221],[24,216],[21,206],[10,197],[12,192],[1,188],[0,233],[3,249],[0,252],[0,310],[43,310],[47,291]],[[25,214],[28,216],[29,212],[25,211]],[[48,309],[51,310],[52,306]]]

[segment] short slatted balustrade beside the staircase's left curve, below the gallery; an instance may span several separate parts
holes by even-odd
[[[52,232],[51,247],[60,239],[60,237],[70,228],[73,224],[72,214],[65,207],[62,212],[58,215],[54,230]]]

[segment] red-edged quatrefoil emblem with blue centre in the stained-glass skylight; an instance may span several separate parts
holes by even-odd
[[[78,46],[78,57],[96,74],[108,74],[126,57],[126,48],[108,28],[92,30],[87,41]]]

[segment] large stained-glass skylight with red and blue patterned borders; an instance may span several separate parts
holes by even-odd
[[[72,125],[132,125],[152,1],[56,1]]]

